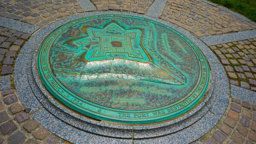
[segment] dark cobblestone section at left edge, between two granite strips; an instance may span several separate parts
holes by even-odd
[[[0,75],[12,73],[20,47],[29,37],[29,34],[0,26]]]

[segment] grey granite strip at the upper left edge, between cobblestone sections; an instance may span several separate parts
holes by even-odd
[[[4,26],[9,29],[14,29],[28,34],[32,34],[33,32],[39,29],[38,26],[33,26],[31,24],[23,23],[17,20],[12,20],[6,17],[0,17],[0,26]]]

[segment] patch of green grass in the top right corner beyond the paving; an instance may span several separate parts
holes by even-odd
[[[243,14],[256,22],[256,0],[209,0],[212,3],[225,6],[228,9]]]

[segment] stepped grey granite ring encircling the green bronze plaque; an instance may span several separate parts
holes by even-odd
[[[212,84],[204,101],[180,118],[161,124],[128,126],[85,118],[67,109],[49,94],[36,72],[36,54],[40,44],[54,29],[72,20],[98,14],[126,14],[144,17],[170,26],[192,40],[206,56],[212,71]],[[24,107],[31,108],[32,117],[59,137],[73,142],[84,141],[138,143],[190,143],[211,130],[224,115],[230,87],[223,66],[211,50],[186,30],[157,18],[128,12],[88,12],[64,18],[38,29],[20,51],[15,62],[14,80],[17,94]],[[58,127],[57,127],[58,126]],[[60,130],[61,128],[66,130]],[[73,133],[73,135],[71,135]]]

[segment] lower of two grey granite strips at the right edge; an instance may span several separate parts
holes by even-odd
[[[231,96],[256,104],[256,92],[231,84]]]

